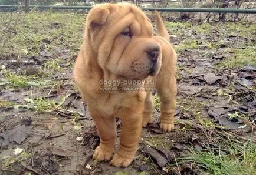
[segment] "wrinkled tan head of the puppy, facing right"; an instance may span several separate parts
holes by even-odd
[[[91,48],[104,76],[145,79],[159,72],[161,48],[153,38],[149,19],[139,8],[119,4],[99,6],[90,11],[87,21]]]

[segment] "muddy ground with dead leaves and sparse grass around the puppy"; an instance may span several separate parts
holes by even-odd
[[[175,131],[159,129],[154,95],[154,122],[136,159],[117,168],[91,159],[99,136],[71,79],[84,16],[22,14],[10,28],[11,14],[0,15],[1,174],[225,174],[226,165],[230,174],[255,174],[254,22],[166,22],[178,52]],[[117,121],[118,134],[121,127]],[[250,143],[251,158],[231,143]],[[201,153],[227,162],[196,159]]]

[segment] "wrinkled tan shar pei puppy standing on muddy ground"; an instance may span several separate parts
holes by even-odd
[[[87,15],[74,66],[76,86],[100,136],[94,159],[111,159],[117,136],[115,117],[122,122],[119,150],[110,161],[116,167],[129,166],[142,126],[152,123],[154,87],[160,97],[160,128],[165,132],[174,128],[176,53],[162,18],[156,11],[154,16],[158,36],[135,5],[94,6]]]

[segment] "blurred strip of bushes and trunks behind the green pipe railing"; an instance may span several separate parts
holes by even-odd
[[[26,0],[25,0],[26,1]],[[0,5],[24,5],[24,0],[0,0]],[[28,0],[29,5],[52,5],[52,6],[95,6],[99,3],[110,2],[130,2],[142,8],[162,7],[162,8],[235,8],[235,9],[254,9],[255,0]],[[12,11],[12,9],[1,9],[2,11]],[[38,9],[34,9],[37,10]],[[60,11],[60,10],[58,10]],[[74,10],[74,12],[87,12],[87,10]],[[199,21],[236,21],[255,17],[251,14],[226,14],[226,13],[189,13],[180,12],[163,13],[169,20],[180,19],[199,19]],[[172,16],[172,17],[170,17]],[[212,18],[211,18],[212,17]]]

